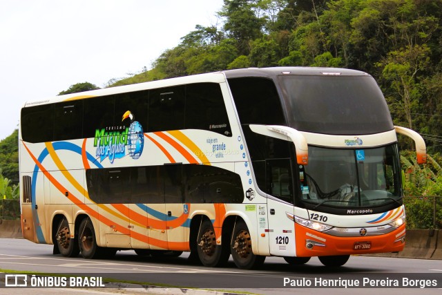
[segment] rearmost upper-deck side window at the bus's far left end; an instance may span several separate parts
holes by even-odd
[[[21,137],[25,142],[52,142],[53,104],[21,109]]]

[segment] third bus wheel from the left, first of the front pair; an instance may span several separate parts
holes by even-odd
[[[201,223],[197,240],[198,257],[206,267],[220,267],[229,260],[229,252],[225,247],[216,245],[215,230],[212,222],[204,218]]]

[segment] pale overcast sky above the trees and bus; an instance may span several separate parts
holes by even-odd
[[[139,73],[196,25],[219,25],[223,0],[0,0],[0,140],[28,100]]]

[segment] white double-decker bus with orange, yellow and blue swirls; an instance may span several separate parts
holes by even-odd
[[[118,249],[243,269],[401,251],[396,133],[367,73],[248,68],[27,102],[23,236],[84,258]]]

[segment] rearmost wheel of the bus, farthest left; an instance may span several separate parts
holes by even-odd
[[[78,256],[79,247],[76,240],[77,235],[72,234],[73,229],[70,227],[66,216],[62,214],[54,216],[52,219],[52,242],[54,243],[54,254],[61,254],[64,257]]]

